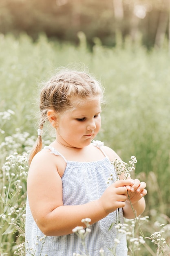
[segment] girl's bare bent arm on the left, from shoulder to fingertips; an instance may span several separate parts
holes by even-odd
[[[76,226],[83,226],[83,218],[91,218],[91,224],[106,217],[119,207],[125,207],[126,186],[130,180],[119,180],[109,186],[101,198],[82,205],[63,205],[62,180],[57,168],[63,159],[42,150],[33,158],[27,179],[27,194],[33,218],[47,236],[71,234]],[[73,174],[74,175],[74,174]]]

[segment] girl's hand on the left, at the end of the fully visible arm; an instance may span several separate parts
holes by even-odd
[[[125,206],[125,201],[127,200],[126,186],[131,188],[133,185],[135,185],[135,181],[132,179],[118,180],[104,191],[101,198],[99,198],[99,203],[106,213],[111,213],[117,208]]]

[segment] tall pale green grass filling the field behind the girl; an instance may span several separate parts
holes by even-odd
[[[61,66],[88,67],[106,88],[106,106],[102,112],[102,130],[97,139],[112,147],[126,162],[131,155],[137,157],[135,177],[146,181],[145,215],[150,216],[145,231],[155,232],[155,221],[167,225],[170,216],[170,64],[168,47],[147,52],[140,42],[125,42],[117,38],[117,46],[106,48],[96,40],[93,52],[88,50],[84,35],[79,33],[80,44],[74,45],[49,41],[41,35],[36,42],[22,34],[0,35],[0,252],[13,255],[15,242],[22,231],[15,229],[24,225],[26,176],[18,167],[18,156],[29,152],[36,137],[38,90],[42,81],[48,79]],[[78,65],[77,65],[78,63]],[[5,111],[15,113],[5,116]],[[7,113],[6,113],[7,114]],[[10,116],[8,118],[8,116]],[[49,135],[43,134],[46,144]],[[16,155],[16,152],[18,155]],[[9,155],[14,154],[14,167]],[[17,156],[17,157],[16,157]],[[10,158],[11,159],[11,158]],[[9,168],[7,162],[10,162]],[[24,164],[24,172],[27,164]],[[9,169],[10,176],[6,176]],[[21,175],[21,187],[17,185]],[[20,177],[21,177],[20,176]],[[14,179],[13,181],[9,180]],[[10,182],[10,183],[9,183]],[[8,191],[8,187],[11,188]],[[5,189],[7,187],[7,190]],[[4,191],[5,190],[5,191]],[[16,193],[14,193],[16,192]],[[4,200],[4,194],[6,199]],[[17,202],[17,204],[16,204]],[[22,213],[13,216],[8,207],[15,206]],[[8,218],[4,217],[6,211]],[[13,215],[14,212],[12,212]],[[3,219],[3,218],[4,219]],[[88,217],[88,216],[87,216]],[[15,220],[15,221],[14,221]],[[12,224],[11,224],[12,223]],[[22,223],[22,224],[21,224]],[[6,231],[7,230],[7,231]],[[16,230],[16,234],[14,231]],[[152,245],[148,245],[152,247]],[[143,247],[139,255],[149,255]],[[154,249],[152,249],[154,250]],[[137,254],[135,254],[137,255]],[[153,254],[150,254],[153,255]],[[156,254],[155,254],[156,255]]]

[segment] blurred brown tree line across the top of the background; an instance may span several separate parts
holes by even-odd
[[[99,38],[114,46],[115,35],[130,36],[148,48],[170,41],[170,0],[0,0],[0,33],[40,32],[77,43],[83,31],[89,45]]]

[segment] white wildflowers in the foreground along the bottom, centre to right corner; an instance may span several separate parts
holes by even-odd
[[[89,218],[87,218],[89,220]],[[150,235],[150,237],[143,237],[140,236],[140,230],[139,225],[144,226],[144,224],[148,225],[149,223],[149,217],[137,217],[134,219],[126,219],[124,218],[124,223],[119,223],[115,225],[115,229],[117,229],[117,238],[115,238],[115,247],[110,249],[110,252],[113,256],[116,256],[116,246],[120,243],[121,235],[124,233],[127,237],[127,243],[128,243],[128,256],[148,256],[148,253],[152,256],[169,256],[170,255],[170,246],[167,242],[170,240],[170,224],[163,225],[159,222],[155,222],[155,227],[160,228],[159,231],[155,231],[153,234]],[[83,222],[84,220],[82,220]],[[75,227],[73,229],[73,232],[77,234],[82,239],[82,244],[86,246],[85,238],[90,232],[90,225],[88,223],[88,229],[89,231],[86,232],[83,227]],[[149,239],[154,245],[157,246],[156,252],[155,250],[152,250],[150,245],[146,243],[146,239]],[[146,248],[146,254],[142,254],[143,247]],[[88,252],[88,248],[86,248]],[[101,248],[99,249],[99,255],[105,256],[104,250]],[[79,254],[74,253],[73,256],[92,256],[87,254]]]

